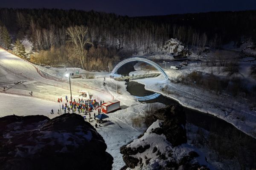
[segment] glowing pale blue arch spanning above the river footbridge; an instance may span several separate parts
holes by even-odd
[[[115,72],[122,66],[124,65],[125,63],[129,63],[131,61],[143,61],[145,63],[148,63],[150,64],[151,66],[154,66],[156,69],[158,69],[161,74],[163,75],[163,77],[166,79],[166,80],[169,80],[168,76],[166,75],[166,72],[164,72],[164,70],[155,62],[153,61],[150,61],[148,59],[145,59],[145,58],[138,58],[138,57],[134,57],[134,58],[128,58],[128,59],[125,59],[123,61],[121,61],[120,63],[118,63],[115,68],[112,70],[111,72],[111,75],[113,76],[115,74]]]

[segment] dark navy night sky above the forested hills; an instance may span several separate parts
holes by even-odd
[[[0,0],[2,8],[95,10],[128,16],[256,10],[256,0]]]

